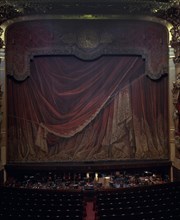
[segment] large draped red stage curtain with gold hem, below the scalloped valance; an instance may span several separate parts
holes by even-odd
[[[141,158],[136,143],[142,132],[135,137],[134,125],[142,129],[138,121],[145,119],[153,133],[156,116],[167,116],[167,103],[160,101],[167,82],[161,80],[162,86],[154,91],[144,69],[145,61],[136,56],[91,61],[74,56],[35,57],[29,78],[7,81],[9,160]],[[164,149],[167,126],[162,129],[160,148]]]

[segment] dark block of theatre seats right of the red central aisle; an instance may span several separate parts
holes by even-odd
[[[162,193],[150,193],[151,188],[146,188],[142,195],[137,189],[133,195],[126,196],[124,192],[99,192],[96,196],[96,220],[179,220],[180,219],[180,183],[170,184],[169,190]],[[168,187],[169,188],[169,187]],[[162,185],[162,189],[165,186]],[[145,192],[145,189],[143,189]],[[160,186],[158,187],[159,192]],[[106,196],[106,197],[105,197]]]

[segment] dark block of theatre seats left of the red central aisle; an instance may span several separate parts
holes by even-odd
[[[30,192],[36,196],[31,196]],[[41,191],[39,193],[42,195]],[[0,189],[0,219],[84,219],[86,215],[84,201],[78,192],[77,197],[76,193],[69,197],[71,195],[69,192],[61,195],[61,192],[54,191],[56,196],[51,192],[49,200],[45,194],[46,191],[43,191],[43,196],[39,196],[38,190],[34,192],[33,190]]]

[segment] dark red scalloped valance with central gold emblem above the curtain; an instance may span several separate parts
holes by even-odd
[[[168,34],[158,23],[29,21],[9,26],[6,36],[7,74],[18,80],[30,75],[29,59],[36,55],[75,55],[85,60],[102,55],[139,55],[148,60],[146,73],[150,78],[168,73]]]

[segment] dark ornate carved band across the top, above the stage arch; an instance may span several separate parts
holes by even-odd
[[[0,0],[0,25],[36,15],[78,15],[82,19],[98,19],[99,15],[150,16],[175,24],[179,8],[179,0]]]

